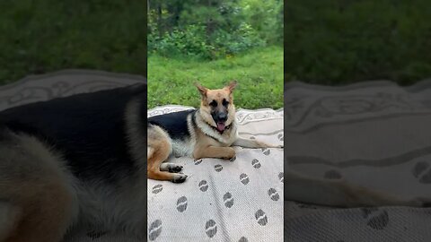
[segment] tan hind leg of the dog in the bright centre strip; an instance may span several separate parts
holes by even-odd
[[[167,160],[172,151],[172,144],[167,134],[158,126],[147,128],[147,176],[154,180],[169,180],[173,183],[184,182],[184,174],[163,171],[169,169],[162,162]]]

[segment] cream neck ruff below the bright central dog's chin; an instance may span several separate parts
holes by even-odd
[[[217,130],[217,128],[213,125],[209,125],[207,121],[205,121],[201,115],[200,110],[196,112],[196,125],[198,125],[198,128],[208,136],[216,139],[220,143],[226,143],[228,145],[232,144],[234,140],[236,139],[236,121],[233,119],[233,122],[229,125],[226,125],[224,128],[225,130],[231,129],[230,135],[224,135],[224,131],[220,132]]]

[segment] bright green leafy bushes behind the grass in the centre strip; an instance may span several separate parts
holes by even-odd
[[[282,8],[278,0],[150,3],[149,53],[216,59],[268,43],[279,44],[283,39]]]

